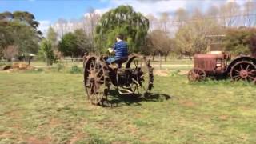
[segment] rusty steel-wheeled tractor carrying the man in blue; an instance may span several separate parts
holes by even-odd
[[[94,105],[103,105],[107,102],[110,86],[114,86],[119,94],[138,96],[149,94],[153,87],[153,68],[146,57],[136,54],[130,55],[125,66],[110,66],[106,58],[97,56],[84,57],[84,86],[90,102]]]

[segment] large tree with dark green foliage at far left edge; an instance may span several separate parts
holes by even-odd
[[[18,54],[36,54],[42,32],[38,31],[39,22],[28,12],[0,13],[0,53],[9,45],[18,48]]]

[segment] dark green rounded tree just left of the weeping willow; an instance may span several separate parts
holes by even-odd
[[[64,56],[77,58],[90,50],[90,40],[82,30],[75,30],[74,33],[65,34],[58,43],[58,50]]]

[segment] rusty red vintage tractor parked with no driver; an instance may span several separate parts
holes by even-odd
[[[256,82],[256,58],[240,55],[231,62],[230,54],[219,44],[211,44],[209,54],[195,54],[194,68],[189,71],[190,82],[210,78],[231,78],[232,81]]]

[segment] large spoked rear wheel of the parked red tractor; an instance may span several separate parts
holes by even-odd
[[[256,66],[252,62],[237,62],[230,70],[230,78],[232,81],[256,82]]]

